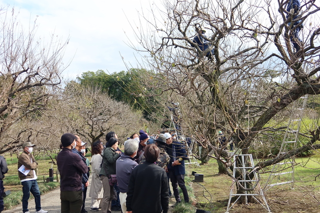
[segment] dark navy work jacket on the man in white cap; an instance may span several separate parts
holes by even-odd
[[[188,159],[185,145],[181,144],[178,141],[173,141],[172,144],[166,145],[166,152],[170,156],[170,162],[168,164],[168,170],[173,170],[175,175],[184,175],[186,174],[185,170],[185,160]],[[172,162],[178,160],[182,157],[180,165],[172,166]]]

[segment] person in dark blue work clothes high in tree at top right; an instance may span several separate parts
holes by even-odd
[[[289,0],[287,6],[287,19],[290,18],[290,22],[288,23],[289,28],[292,30],[290,34],[290,40],[295,48],[296,52],[300,50],[303,43],[302,40],[299,38],[299,32],[303,28],[302,20],[297,20],[298,13],[300,9],[300,0]],[[300,24],[301,23],[301,24]]]

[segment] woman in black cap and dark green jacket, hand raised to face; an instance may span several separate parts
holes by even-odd
[[[111,201],[115,193],[113,186],[109,185],[108,177],[116,174],[116,161],[121,154],[121,151],[116,151],[118,145],[117,138],[110,138],[102,154],[102,167],[99,174],[103,186],[102,213],[111,213]]]

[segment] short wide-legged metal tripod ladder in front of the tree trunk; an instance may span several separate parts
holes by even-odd
[[[259,183],[260,179],[258,178],[258,175],[256,173],[256,170],[254,170],[254,168],[255,168],[255,165],[254,165],[254,160],[252,158],[252,154],[235,154],[233,156],[232,176],[235,177],[236,170],[238,169],[242,173],[242,180],[233,180],[233,183],[231,185],[230,195],[229,195],[228,206],[226,208],[225,213],[229,213],[229,210],[240,199],[241,196],[245,196],[246,204],[248,203],[248,196],[252,196],[259,204],[261,204],[261,206],[264,209],[268,211],[268,213],[271,213]],[[250,173],[253,173],[253,174],[250,174]],[[244,188],[243,193],[241,194],[237,193],[237,186],[238,186],[237,184],[241,184],[241,186]],[[239,197],[230,206],[231,198],[233,196],[239,196]],[[260,197],[261,200],[257,199],[257,197]]]

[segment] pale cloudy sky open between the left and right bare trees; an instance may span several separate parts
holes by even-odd
[[[102,69],[110,73],[137,67],[137,53],[128,47],[128,37],[135,41],[128,23],[138,20],[141,7],[149,0],[0,0],[1,6],[14,6],[26,27],[37,19],[38,37],[52,33],[69,38],[64,61],[73,60],[64,76],[75,78],[82,72]],[[126,15],[125,15],[126,14]],[[127,34],[127,35],[126,35]],[[123,60],[121,58],[123,57]]]

